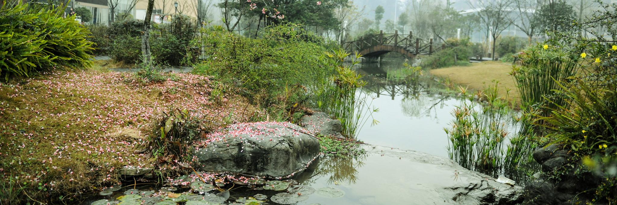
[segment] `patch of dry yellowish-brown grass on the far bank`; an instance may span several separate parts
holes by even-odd
[[[499,95],[508,97],[519,103],[521,98],[516,92],[516,82],[510,76],[511,63],[486,61],[473,63],[471,66],[453,66],[431,70],[431,74],[442,78],[449,78],[451,82],[468,86],[473,90],[483,90],[491,85],[492,81],[499,82]],[[510,89],[510,92],[507,92]]]

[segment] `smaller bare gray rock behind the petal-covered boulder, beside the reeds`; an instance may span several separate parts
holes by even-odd
[[[300,125],[307,131],[322,135],[340,135],[342,131],[341,121],[332,119],[328,114],[315,112],[312,115],[304,116],[300,120]]]

